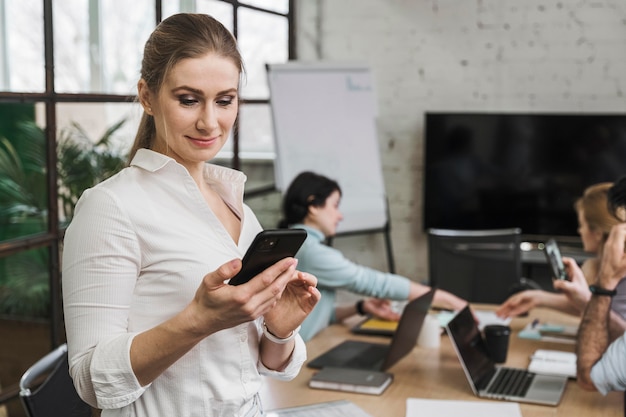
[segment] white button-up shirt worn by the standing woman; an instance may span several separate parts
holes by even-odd
[[[291,379],[306,359],[298,336],[287,368],[266,369],[259,319],[207,337],[150,385],[137,381],[133,337],[183,310],[204,275],[241,258],[261,230],[243,204],[245,175],[207,164],[205,179],[240,217],[238,244],[187,170],[146,149],[76,206],[63,249],[70,373],[103,417],[255,415],[261,375]]]

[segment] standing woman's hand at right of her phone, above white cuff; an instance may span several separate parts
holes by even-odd
[[[313,311],[322,297],[316,286],[317,278],[306,272],[296,271],[280,300],[264,315],[265,324],[274,336],[288,337]]]

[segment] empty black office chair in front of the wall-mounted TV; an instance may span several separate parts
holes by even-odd
[[[469,302],[500,304],[525,286],[521,229],[428,230],[430,285]]]

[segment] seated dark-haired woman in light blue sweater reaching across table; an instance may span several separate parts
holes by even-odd
[[[340,322],[355,313],[398,320],[399,315],[388,300],[412,300],[430,287],[409,278],[358,265],[324,242],[335,235],[343,219],[339,211],[341,188],[325,176],[313,172],[299,174],[283,198],[283,220],[280,227],[302,228],[308,237],[298,253],[298,270],[317,277],[321,300],[302,323],[300,334],[307,341],[329,324]],[[350,306],[336,306],[337,290],[368,297]],[[433,304],[460,310],[467,302],[449,292],[437,290]]]

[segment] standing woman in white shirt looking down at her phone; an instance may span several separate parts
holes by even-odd
[[[84,192],[65,235],[70,373],[102,416],[261,416],[263,375],[295,377],[320,298],[286,258],[227,281],[261,231],[245,175],[207,164],[238,112],[234,37],[177,14],[148,39],[130,166]]]

